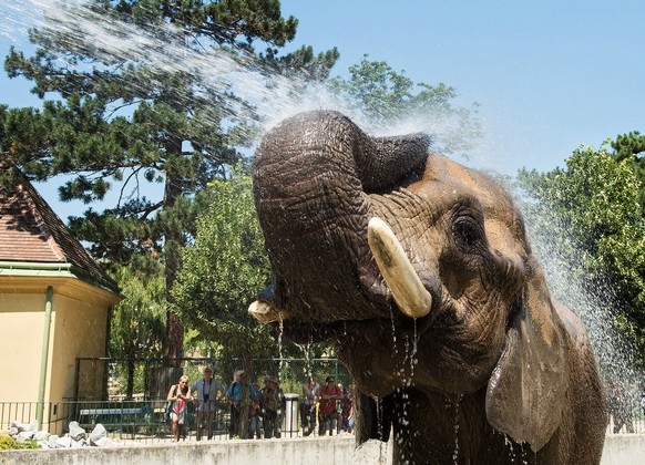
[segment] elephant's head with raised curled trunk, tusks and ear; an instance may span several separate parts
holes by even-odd
[[[554,307],[510,195],[429,144],[335,112],[266,134],[254,195],[276,283],[249,312],[332,339],[373,399],[472,397],[487,427],[540,451],[569,413],[584,330]]]

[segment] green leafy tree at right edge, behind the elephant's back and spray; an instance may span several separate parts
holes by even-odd
[[[526,203],[528,219],[590,293],[613,290],[607,311],[616,311],[615,322],[643,351],[645,224],[633,161],[581,147],[565,162],[565,169],[546,174],[520,172],[520,186],[538,200]]]

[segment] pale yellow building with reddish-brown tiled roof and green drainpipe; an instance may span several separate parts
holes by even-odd
[[[79,389],[102,395],[103,365],[84,366],[76,380],[76,358],[105,356],[110,308],[121,297],[33,186],[14,179],[0,184],[0,414],[29,403],[31,420],[57,423]]]

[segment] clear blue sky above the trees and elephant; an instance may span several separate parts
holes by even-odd
[[[0,54],[24,48],[11,32],[13,0],[0,0]],[[364,54],[417,82],[455,87],[477,102],[485,137],[475,166],[515,173],[563,166],[579,145],[645,133],[645,2],[283,0],[299,20],[296,40],[316,51],[337,46],[332,74]],[[8,25],[9,24],[9,25]],[[9,33],[8,33],[9,31]],[[33,105],[29,83],[0,78],[0,102]],[[44,193],[48,199],[51,198]],[[64,216],[64,215],[63,215]]]

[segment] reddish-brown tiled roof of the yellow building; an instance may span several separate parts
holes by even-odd
[[[119,293],[116,282],[32,184],[20,174],[13,179],[10,185],[0,183],[0,262],[71,265],[78,278]]]

